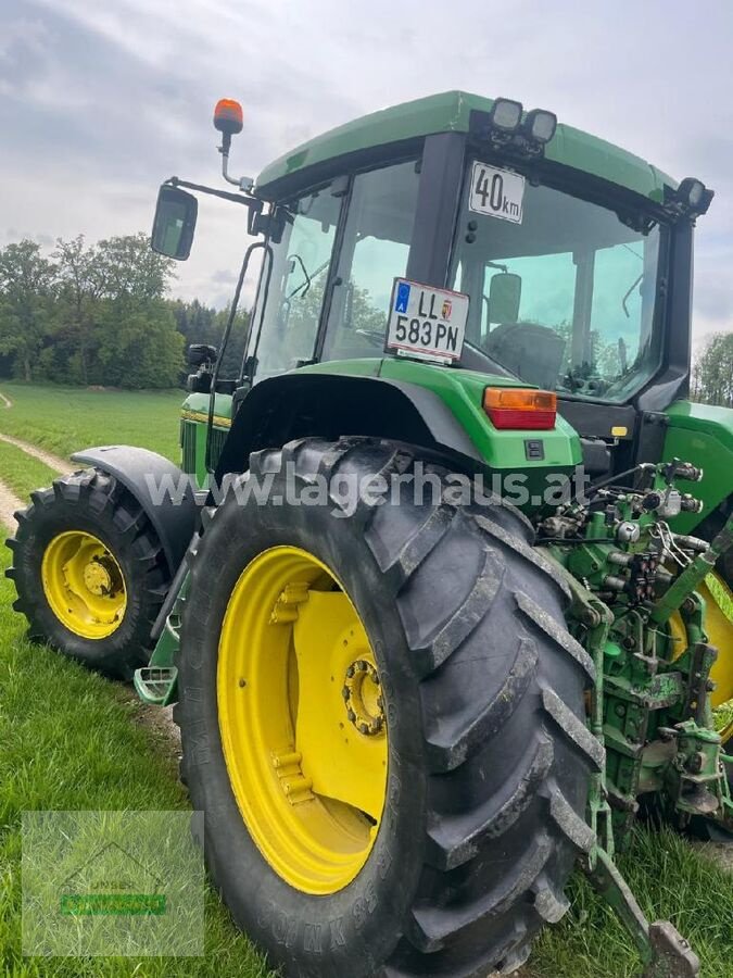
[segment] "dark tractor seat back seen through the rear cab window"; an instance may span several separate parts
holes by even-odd
[[[565,356],[565,340],[548,326],[503,323],[485,338],[484,350],[528,384],[555,390]]]

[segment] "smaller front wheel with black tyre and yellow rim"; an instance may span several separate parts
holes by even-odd
[[[113,476],[86,469],[30,494],[8,546],[13,605],[29,636],[106,676],[129,679],[150,657],[169,579],[155,531]]]

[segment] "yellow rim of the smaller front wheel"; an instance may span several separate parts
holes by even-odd
[[[104,639],[119,628],[127,591],[119,564],[84,530],[59,534],[46,548],[41,581],[53,614],[74,635]]]

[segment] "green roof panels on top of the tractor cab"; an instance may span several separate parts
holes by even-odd
[[[299,173],[305,176],[305,172],[317,164],[363,150],[419,139],[434,133],[468,133],[471,111],[489,112],[493,104],[493,99],[483,96],[445,91],[371,112],[329,129],[275,160],[257,177],[255,192],[271,199],[277,196],[277,185],[283,178]],[[557,126],[553,140],[545,149],[545,156],[658,203],[662,200],[665,184],[677,187],[675,180],[640,156],[564,124]]]

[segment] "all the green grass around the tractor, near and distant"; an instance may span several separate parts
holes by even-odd
[[[0,431],[67,453],[78,444],[127,440],[176,456],[180,392],[46,390],[0,385]],[[49,412],[45,416],[43,408]],[[66,406],[64,406],[66,405]],[[86,405],[86,406],[85,406]],[[151,413],[155,422],[151,424]],[[20,421],[18,421],[20,418]],[[165,448],[167,443],[167,449]],[[0,443],[0,477],[24,498],[53,474]],[[0,572],[8,554],[0,550]],[[36,976],[187,976],[263,978],[267,974],[213,892],[206,903],[206,956],[187,958],[23,958],[20,951],[20,816],[23,810],[184,808],[175,758],[141,723],[128,689],[23,638],[0,578],[0,974]],[[650,919],[671,919],[703,958],[703,978],[733,976],[731,877],[680,837],[640,829],[623,873]],[[631,978],[640,965],[625,930],[577,874],[572,907],[536,944],[533,978]]]

